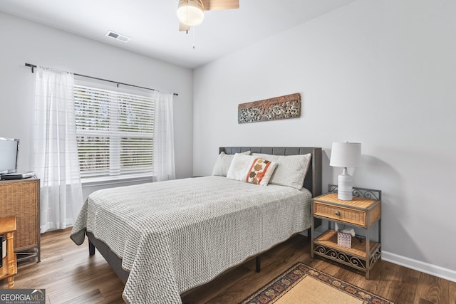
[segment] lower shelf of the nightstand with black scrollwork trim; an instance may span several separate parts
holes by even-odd
[[[361,271],[367,271],[380,259],[380,243],[369,241],[370,254],[366,258],[366,239],[352,239],[351,248],[337,245],[337,231],[328,230],[314,240],[314,254],[343,263]],[[368,263],[368,269],[366,267]]]

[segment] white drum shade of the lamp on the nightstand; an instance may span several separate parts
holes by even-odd
[[[333,142],[331,149],[332,167],[361,167],[361,144],[358,142]]]

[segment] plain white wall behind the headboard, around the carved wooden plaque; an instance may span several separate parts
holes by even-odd
[[[219,146],[362,143],[383,191],[383,258],[456,281],[456,2],[355,1],[195,70],[194,174]],[[237,105],[301,93],[299,119],[237,124]],[[326,189],[326,186],[323,186]],[[439,273],[440,272],[440,273]]]

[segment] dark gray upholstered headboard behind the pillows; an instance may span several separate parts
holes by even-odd
[[[321,148],[319,147],[219,147],[219,153],[225,154],[252,151],[274,155],[312,154],[311,166],[304,179],[304,187],[312,192],[312,196],[321,195]]]

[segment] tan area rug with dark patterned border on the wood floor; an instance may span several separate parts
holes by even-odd
[[[242,301],[242,304],[266,303],[394,304],[301,262]]]

